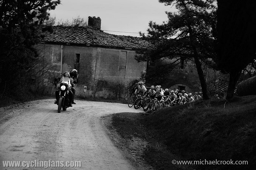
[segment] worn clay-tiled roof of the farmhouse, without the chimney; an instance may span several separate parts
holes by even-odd
[[[79,27],[77,31],[71,26],[53,26],[53,32],[42,31],[45,43],[80,44],[113,48],[145,49],[149,48],[149,41],[139,37],[120,36],[103,32],[93,27]]]

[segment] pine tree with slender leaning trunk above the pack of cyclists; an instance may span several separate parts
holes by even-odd
[[[149,22],[149,35],[145,37],[152,42],[153,47],[147,51],[138,51],[138,61],[157,61],[159,59],[180,58],[193,60],[196,64],[198,77],[203,92],[203,98],[208,99],[207,85],[202,69],[202,62],[207,63],[215,53],[212,48],[214,31],[212,25],[216,22],[214,0],[159,0],[166,6],[175,6],[177,12],[166,12],[168,21],[158,25]]]

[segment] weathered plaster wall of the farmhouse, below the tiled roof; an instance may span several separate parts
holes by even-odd
[[[57,77],[60,77],[61,45],[42,44],[39,48],[41,54],[47,56],[56,66],[49,72],[57,73]],[[80,55],[79,61],[76,54]],[[134,55],[134,50],[63,45],[62,73],[70,72],[73,68],[77,69],[79,83],[75,86],[76,95],[88,97],[93,95],[97,80],[127,84],[132,79],[139,79],[141,72],[146,70],[146,62],[138,63]],[[85,93],[84,86],[87,86]],[[97,94],[105,95],[106,92]],[[109,91],[107,95],[110,96]]]

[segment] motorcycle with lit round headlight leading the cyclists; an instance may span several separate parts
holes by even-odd
[[[69,78],[62,77],[62,82],[60,83],[59,90],[59,100],[58,100],[58,113],[60,113],[61,108],[63,111],[69,107],[69,90],[68,90]]]

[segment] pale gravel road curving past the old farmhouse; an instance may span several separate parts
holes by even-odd
[[[3,161],[81,161],[81,167],[47,169],[135,169],[114,147],[103,126],[112,113],[143,112],[125,104],[76,101],[67,111],[57,112],[53,100],[32,101],[0,108],[0,169]],[[136,113],[134,113],[136,114]],[[52,162],[51,162],[52,163]],[[33,164],[32,164],[33,165]]]

